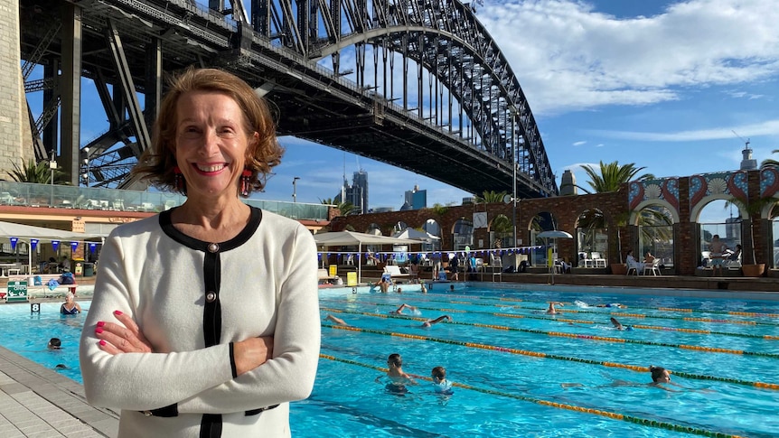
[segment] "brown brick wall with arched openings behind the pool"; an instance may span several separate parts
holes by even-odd
[[[699,264],[699,226],[690,221],[690,177],[680,177],[679,181],[679,222],[673,225],[674,241],[674,270],[676,275],[694,275]],[[754,198],[760,193],[760,172],[748,172],[748,192]],[[577,219],[586,210],[601,210],[608,228],[608,263],[620,263],[629,249],[634,252],[638,249],[639,228],[628,223],[628,186],[612,193],[582,194],[571,196],[558,196],[555,198],[543,198],[532,200],[520,200],[517,203],[517,238],[521,239],[518,246],[530,246],[530,225],[534,217],[542,212],[549,212],[557,222],[557,229],[568,231],[576,236]],[[436,215],[433,209],[392,211],[389,213],[374,213],[349,217],[334,218],[331,224],[333,231],[341,231],[347,225],[351,225],[356,231],[366,232],[371,224],[377,224],[381,233],[390,236],[392,228],[399,221],[405,222],[409,228],[420,228],[427,219],[435,219],[441,227],[441,248],[444,251],[454,248],[452,231],[458,219],[473,220],[475,211],[487,211],[488,221],[497,215],[506,215],[512,219],[512,204],[493,203],[448,207],[443,215]],[[742,228],[742,245],[745,256],[748,239],[748,221]],[[756,258],[758,263],[767,263],[770,266],[772,251],[772,223],[767,219],[760,219],[759,215],[753,218]],[[492,247],[488,239],[489,228],[474,229],[475,250],[483,247]],[[779,238],[779,237],[773,237]],[[483,240],[483,247],[479,247],[479,240]],[[558,240],[558,256],[568,260],[577,260],[577,247],[575,239]],[[621,251],[620,251],[621,248]],[[622,253],[622,257],[620,257]],[[745,261],[748,258],[745,258]]]

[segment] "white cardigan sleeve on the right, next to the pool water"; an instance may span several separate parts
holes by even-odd
[[[208,389],[178,405],[180,413],[225,414],[301,400],[311,394],[319,361],[322,325],[316,245],[311,233],[297,228],[285,259],[285,278],[278,294],[273,359],[258,368]]]

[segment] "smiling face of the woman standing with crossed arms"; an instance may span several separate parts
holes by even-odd
[[[175,155],[189,198],[238,199],[252,136],[238,103],[212,91],[184,93],[176,104]]]

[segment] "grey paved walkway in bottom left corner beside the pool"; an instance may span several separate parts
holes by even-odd
[[[0,436],[117,436],[119,416],[87,404],[84,387],[0,347]]]

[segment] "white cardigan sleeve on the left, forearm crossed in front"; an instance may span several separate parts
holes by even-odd
[[[80,367],[89,404],[136,411],[156,409],[231,380],[230,344],[194,351],[116,356],[99,349],[97,322],[116,321],[116,310],[129,311],[129,316],[134,317],[137,296],[132,296],[127,288],[131,277],[123,263],[126,256],[139,255],[125,253],[121,239],[113,235],[100,254],[95,294],[80,340]]]

